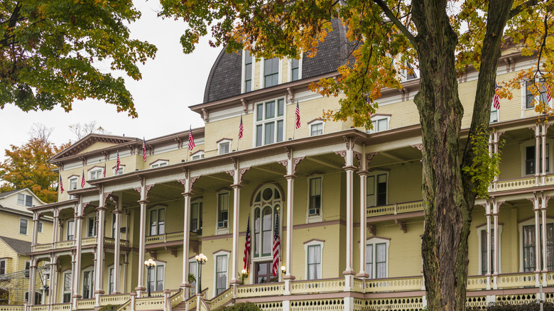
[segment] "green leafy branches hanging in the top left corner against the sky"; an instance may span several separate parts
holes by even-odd
[[[3,1],[0,8],[0,108],[72,109],[75,99],[102,99],[136,117],[124,80],[97,69],[108,62],[134,80],[137,63],[156,47],[129,38],[140,17],[131,1]],[[1,38],[4,38],[3,40]]]

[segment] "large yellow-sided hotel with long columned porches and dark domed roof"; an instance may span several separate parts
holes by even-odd
[[[222,50],[204,102],[190,107],[205,121],[192,129],[192,150],[188,129],[148,138],[144,150],[141,138],[90,134],[51,158],[65,192],[29,208],[54,227],[52,240],[31,246],[31,278],[37,263],[53,267],[48,300],[37,306],[31,297],[31,309],[216,310],[245,301],[263,310],[425,307],[418,78],[382,92],[374,129],[322,119],[338,99],[308,86],[338,75],[345,39],[334,28],[314,58],[256,60]],[[534,61],[504,50],[497,80]],[[465,136],[476,81],[471,69],[459,81]],[[491,198],[472,214],[469,306],[554,300],[554,139],[522,84],[501,109],[491,107],[491,152],[505,143]]]

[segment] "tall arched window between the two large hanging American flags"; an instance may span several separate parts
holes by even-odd
[[[266,185],[254,197],[254,258],[272,258],[275,222],[283,196],[277,187]]]

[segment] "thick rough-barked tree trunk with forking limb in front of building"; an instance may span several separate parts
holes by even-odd
[[[500,38],[512,1],[489,1],[494,2],[489,4],[489,12],[495,13],[487,23],[470,133],[489,124]],[[414,102],[423,140],[423,274],[428,310],[441,311],[465,310],[467,238],[476,195],[471,178],[461,170],[462,163],[472,163],[473,153],[468,143],[460,160],[464,110],[455,68],[457,36],[450,27],[446,5],[447,1],[440,0],[413,1],[418,29],[415,49],[420,61],[420,91]]]

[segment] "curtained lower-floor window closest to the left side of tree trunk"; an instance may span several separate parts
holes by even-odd
[[[388,239],[371,238],[366,242],[366,273],[369,278],[387,278],[389,275]]]

